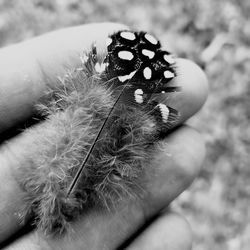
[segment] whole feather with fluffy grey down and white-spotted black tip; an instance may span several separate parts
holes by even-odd
[[[24,132],[32,140],[15,174],[25,194],[21,219],[50,235],[95,206],[140,197],[152,146],[179,116],[154,99],[179,88],[168,86],[171,55],[149,34],[117,32],[104,60],[95,46],[81,60],[37,105],[46,119]]]

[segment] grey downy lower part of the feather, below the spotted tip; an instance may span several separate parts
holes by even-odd
[[[91,55],[90,55],[91,57]],[[22,218],[45,233],[62,233],[92,206],[113,207],[136,196],[138,177],[154,140],[154,119],[121,105],[98,139],[74,190],[68,189],[115,100],[93,63],[68,73],[38,106],[46,117],[28,129],[27,163],[18,170],[25,191]]]

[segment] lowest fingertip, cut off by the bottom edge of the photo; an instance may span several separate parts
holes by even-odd
[[[187,221],[178,214],[161,214],[126,250],[191,250],[192,233]]]

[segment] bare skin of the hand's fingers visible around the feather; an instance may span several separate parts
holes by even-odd
[[[98,51],[105,53],[106,37],[120,29],[127,27],[113,23],[84,25],[1,49],[0,132],[28,119],[46,83],[63,76],[65,69],[79,65],[79,54],[88,50],[93,41],[97,42]],[[204,73],[188,60],[177,60],[177,73],[172,84],[181,86],[182,91],[167,103],[180,111],[179,127],[161,143],[152,159],[154,178],[145,183],[144,199],[127,201],[116,213],[89,211],[74,223],[70,237],[49,239],[34,230],[10,241],[8,246],[2,243],[3,249],[110,250],[121,245],[121,249],[131,250],[191,249],[187,222],[165,208],[192,183],[201,167],[203,140],[194,129],[182,124],[202,107],[208,87]],[[22,193],[11,171],[21,167],[17,159],[22,157],[25,140],[29,140],[29,134],[20,134],[0,146],[0,247],[1,242],[23,227],[17,216]],[[149,219],[151,223],[145,225]]]

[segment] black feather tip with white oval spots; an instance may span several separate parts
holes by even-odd
[[[111,35],[108,41],[108,55],[104,60],[108,63],[107,80],[118,79],[113,83],[115,87],[129,81],[121,100],[126,105],[136,105],[147,112],[154,110],[152,115],[156,117],[158,131],[167,132],[174,126],[179,114],[175,109],[167,108],[169,114],[166,117],[166,112],[159,108],[165,107],[165,104],[157,103],[152,96],[180,90],[169,86],[176,76],[173,55],[162,50],[160,42],[145,32],[124,30]]]

